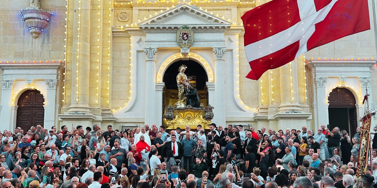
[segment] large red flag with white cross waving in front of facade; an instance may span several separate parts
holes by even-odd
[[[242,17],[244,45],[257,80],[320,45],[370,29],[367,0],[273,0]]]

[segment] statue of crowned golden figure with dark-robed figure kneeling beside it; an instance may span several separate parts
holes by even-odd
[[[200,107],[200,100],[198,91],[194,88],[193,84],[190,83],[192,77],[187,77],[185,74],[185,65],[181,65],[178,69],[178,75],[176,77],[178,86],[178,101],[176,105],[178,107],[192,106]]]

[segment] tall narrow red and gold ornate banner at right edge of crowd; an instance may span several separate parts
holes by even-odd
[[[360,132],[360,148],[359,148],[359,155],[357,159],[357,170],[355,173],[356,179],[360,179],[360,176],[366,173],[366,168],[368,166],[368,152],[371,142],[371,121],[372,115],[371,113],[366,114],[363,118],[363,125],[361,126]]]

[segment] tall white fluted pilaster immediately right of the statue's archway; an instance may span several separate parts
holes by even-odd
[[[215,63],[215,104],[213,107],[213,123],[225,126],[225,99],[224,99],[224,61],[226,47],[213,48]],[[209,93],[208,93],[209,94]]]

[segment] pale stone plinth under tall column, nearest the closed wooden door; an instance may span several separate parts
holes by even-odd
[[[92,114],[59,114],[58,117],[63,120],[60,125],[68,127],[71,124],[92,127],[92,121],[95,119],[95,115]]]

